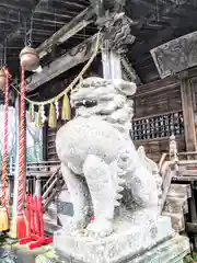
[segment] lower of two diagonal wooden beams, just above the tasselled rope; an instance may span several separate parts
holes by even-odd
[[[57,58],[43,68],[40,73],[34,73],[26,79],[26,91],[33,91],[74,66],[86,61],[94,53],[97,34],[89,37],[80,45]],[[74,54],[74,55],[72,55]]]

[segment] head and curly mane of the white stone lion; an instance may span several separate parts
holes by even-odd
[[[132,100],[127,95],[136,92],[136,84],[115,80],[112,84],[101,78],[88,78],[71,94],[76,116],[96,116],[111,123],[119,132],[128,134],[134,115]]]

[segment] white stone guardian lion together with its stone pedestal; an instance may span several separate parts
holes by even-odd
[[[189,251],[171,218],[159,216],[158,165],[130,138],[135,92],[135,83],[92,77],[71,93],[76,117],[56,138],[73,204],[54,235],[62,262],[181,263]]]

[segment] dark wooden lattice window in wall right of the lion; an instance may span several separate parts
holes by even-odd
[[[170,137],[172,134],[184,134],[182,111],[134,118],[131,123],[130,136],[132,140]]]

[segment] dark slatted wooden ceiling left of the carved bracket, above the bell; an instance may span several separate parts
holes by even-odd
[[[86,7],[89,0],[1,0],[0,45],[7,47],[11,73],[15,76],[19,72],[19,54],[25,44],[38,47]],[[86,26],[61,48],[80,43],[95,31],[95,27],[92,32],[92,27]],[[45,60],[51,59],[53,56]]]

